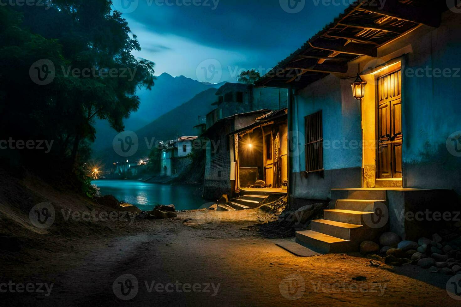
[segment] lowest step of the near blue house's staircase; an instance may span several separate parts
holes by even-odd
[[[322,254],[343,253],[357,249],[356,243],[313,230],[296,232],[296,243]]]

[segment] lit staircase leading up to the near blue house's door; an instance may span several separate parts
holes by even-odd
[[[335,209],[324,210],[324,218],[313,220],[310,230],[296,232],[296,243],[322,254],[351,252],[384,232],[387,220],[380,219],[387,212],[386,190],[334,189],[331,198]]]

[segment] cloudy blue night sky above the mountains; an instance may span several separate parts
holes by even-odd
[[[113,0],[113,8],[124,12],[142,46],[134,54],[154,61],[155,75],[219,83],[235,81],[238,70],[264,75],[349,6],[296,1]]]

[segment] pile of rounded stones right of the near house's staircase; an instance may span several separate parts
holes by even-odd
[[[455,232],[441,230],[431,238],[420,237],[418,242],[400,241],[396,233],[385,232],[379,243],[381,248],[375,242],[362,242],[362,254],[378,252],[391,266],[411,264],[445,275],[461,274],[461,237]]]

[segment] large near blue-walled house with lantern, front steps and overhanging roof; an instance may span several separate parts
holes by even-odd
[[[329,203],[296,242],[325,253],[385,231],[417,240],[445,221],[408,213],[460,211],[460,10],[372,2],[347,8],[256,83],[289,91],[289,206]]]

